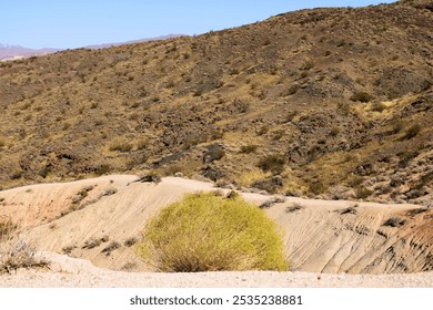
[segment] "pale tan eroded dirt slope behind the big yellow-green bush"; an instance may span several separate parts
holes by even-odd
[[[107,176],[3,190],[1,213],[12,215],[23,227],[28,225],[22,238],[39,250],[85,258],[114,270],[151,270],[138,259],[133,246],[149,216],[185,193],[215,188],[211,183],[175,177],[163,178],[160,184],[137,179]],[[79,203],[82,205],[66,213],[77,193],[89,185],[93,189]],[[62,197],[63,204],[52,204],[52,193]],[[272,198],[243,195],[258,205]],[[433,270],[432,209],[286,197],[266,211],[283,228],[293,270],[326,273]],[[52,219],[48,220],[47,215]]]

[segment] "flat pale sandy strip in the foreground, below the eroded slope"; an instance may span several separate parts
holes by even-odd
[[[325,275],[311,272],[121,272],[88,260],[51,252],[51,270],[19,270],[0,277],[0,287],[100,288],[433,288],[433,272],[410,275]]]

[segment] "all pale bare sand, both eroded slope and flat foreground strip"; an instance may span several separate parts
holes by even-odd
[[[20,238],[29,240],[38,250],[70,256],[49,254],[52,261],[58,261],[53,271],[70,270],[71,267],[59,267],[59,261],[68,261],[68,266],[77,264],[78,269],[72,269],[80,270],[66,273],[22,270],[2,276],[1,282],[17,286],[14,281],[21,283],[20,279],[30,277],[29,286],[38,287],[110,287],[113,283],[120,287],[433,287],[433,273],[427,272],[433,270],[433,210],[415,205],[290,197],[273,205],[266,211],[282,227],[292,271],[298,272],[113,272],[71,258],[83,258],[112,270],[151,271],[128,241],[140,237],[149,216],[185,193],[215,190],[211,183],[191,179],[168,177],[158,185],[137,179],[137,176],[104,176],[0,192],[0,216],[10,215],[23,227]],[[271,198],[243,195],[255,204]],[[119,248],[103,251],[112,242]],[[245,281],[240,280],[243,278]]]

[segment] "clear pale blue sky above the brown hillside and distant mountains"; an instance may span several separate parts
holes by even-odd
[[[71,49],[165,34],[200,34],[279,13],[375,0],[0,0],[0,43]]]

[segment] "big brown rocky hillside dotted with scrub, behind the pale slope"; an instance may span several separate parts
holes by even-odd
[[[0,185],[154,169],[430,206],[432,8],[302,10],[0,63]]]

